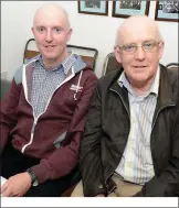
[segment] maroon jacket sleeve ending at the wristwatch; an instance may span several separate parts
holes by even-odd
[[[69,143],[56,149],[48,158],[41,160],[40,164],[32,167],[40,184],[48,179],[55,179],[70,174],[78,163],[80,143],[84,132],[85,116],[97,79],[92,72],[88,75],[66,133],[65,140]]]

